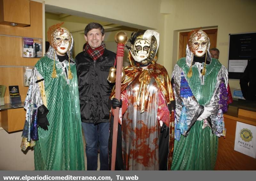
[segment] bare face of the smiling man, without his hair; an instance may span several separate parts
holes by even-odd
[[[102,41],[104,40],[104,36],[105,35],[102,35],[100,32],[100,28],[98,28],[90,30],[86,36],[84,35],[84,38],[85,41],[88,42],[90,47],[92,49],[95,49],[101,45]]]

